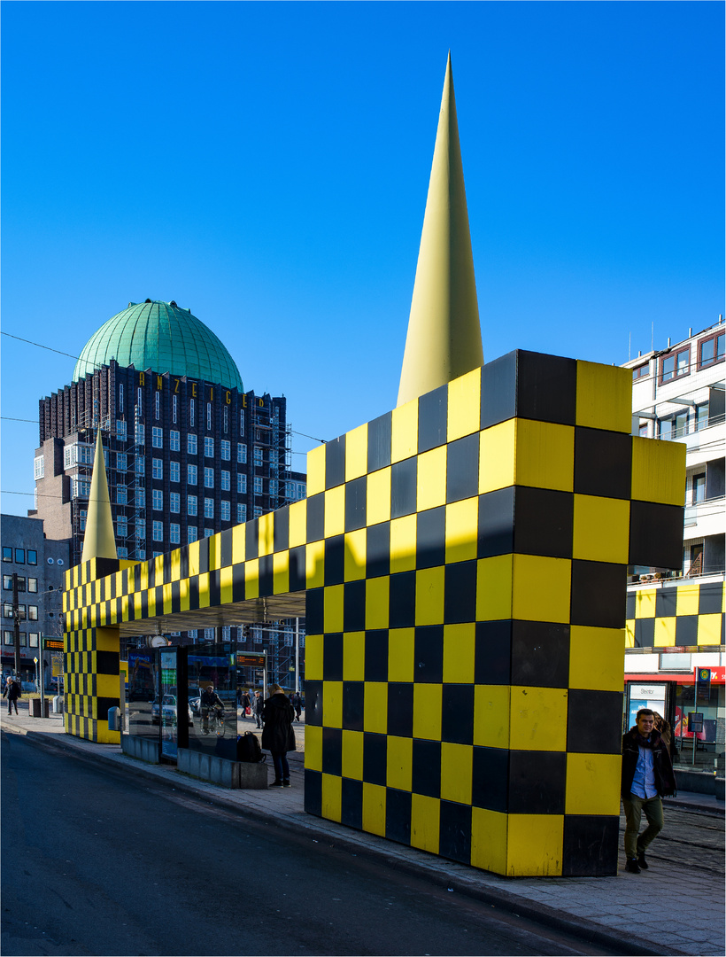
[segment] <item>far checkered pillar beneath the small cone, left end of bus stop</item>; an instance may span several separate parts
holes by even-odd
[[[119,628],[99,627],[98,606],[93,603],[99,599],[100,580],[119,568],[114,559],[94,558],[66,572],[63,590],[66,732],[117,745],[121,734],[109,731],[108,711],[119,706]],[[71,608],[72,590],[76,590],[74,604],[82,607]]]

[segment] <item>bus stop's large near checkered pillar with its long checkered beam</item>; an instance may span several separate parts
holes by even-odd
[[[680,565],[685,486],[630,392],[531,352],[474,369],[310,453],[307,500],[78,580],[68,640],[306,590],[308,812],[500,874],[613,874],[627,566]]]

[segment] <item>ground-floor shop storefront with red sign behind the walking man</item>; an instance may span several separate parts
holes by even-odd
[[[703,770],[724,768],[726,667],[693,668],[690,674],[626,674],[624,727],[648,707],[671,724],[673,762]]]

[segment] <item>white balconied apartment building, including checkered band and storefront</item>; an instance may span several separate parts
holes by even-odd
[[[681,765],[723,768],[726,323],[625,364],[633,434],[686,446],[683,568],[633,568],[627,589],[626,723],[649,704],[674,730]],[[696,672],[698,669],[698,672]],[[696,674],[708,670],[708,686]],[[689,728],[689,715],[703,729]]]

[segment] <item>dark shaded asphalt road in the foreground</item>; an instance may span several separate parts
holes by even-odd
[[[23,737],[2,784],[4,957],[616,953]]]

